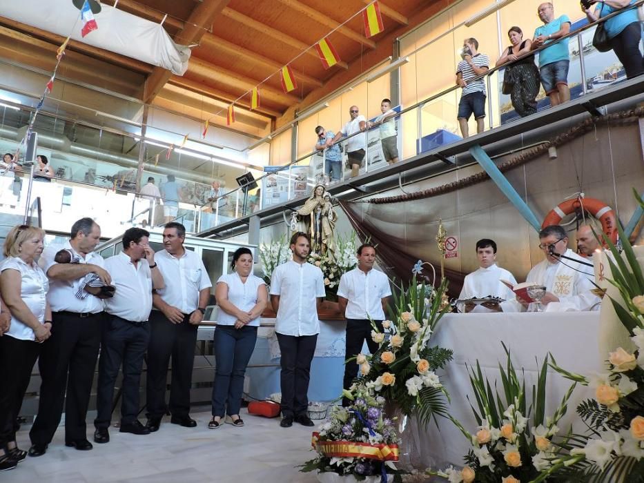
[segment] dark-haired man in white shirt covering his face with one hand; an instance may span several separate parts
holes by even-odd
[[[150,434],[139,420],[139,383],[143,358],[150,339],[148,317],[152,310],[152,290],[164,288],[164,279],[155,264],[155,253],[148,244],[150,233],[128,228],[123,235],[123,251],[106,259],[105,268],[116,287],[106,299],[106,326],[101,342],[97,384],[94,441],[110,441],[114,384],[123,362],[121,383],[121,433]]]

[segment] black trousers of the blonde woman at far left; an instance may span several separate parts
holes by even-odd
[[[0,337],[0,448],[16,440],[17,417],[42,344]]]

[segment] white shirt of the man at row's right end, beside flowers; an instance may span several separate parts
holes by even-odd
[[[372,268],[364,273],[356,267],[340,277],[338,297],[348,300],[347,319],[384,320],[382,299],[391,295],[389,279],[380,270]]]

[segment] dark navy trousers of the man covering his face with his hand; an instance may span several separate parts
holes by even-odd
[[[99,382],[94,426],[108,428],[112,421],[114,386],[123,363],[121,383],[121,425],[135,422],[139,414],[139,386],[143,359],[150,339],[149,322],[128,322],[108,315],[101,342]]]

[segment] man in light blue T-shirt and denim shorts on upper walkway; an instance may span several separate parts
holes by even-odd
[[[548,45],[539,52],[539,71],[541,85],[550,99],[551,106],[570,100],[568,88],[568,39],[557,41],[570,32],[570,19],[567,15],[554,18],[552,3],[541,3],[537,13],[544,25],[536,28],[532,40],[532,50]]]

